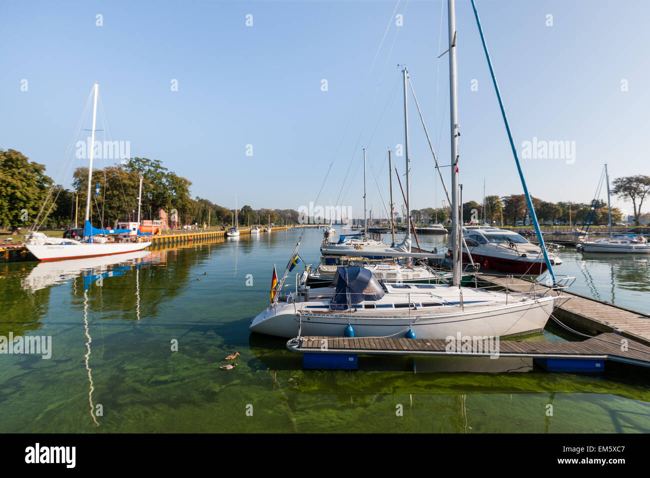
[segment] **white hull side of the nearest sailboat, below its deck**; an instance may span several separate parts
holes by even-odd
[[[355,337],[404,338],[410,326],[416,338],[445,339],[448,336],[507,337],[542,330],[553,311],[554,297],[515,302],[470,312],[438,312],[411,317],[385,315],[366,316],[364,313],[304,313],[302,328],[295,307],[299,304],[276,304],[276,312],[269,306],[253,319],[250,330],[261,334],[294,338],[302,336],[343,337],[346,327],[354,329]]]

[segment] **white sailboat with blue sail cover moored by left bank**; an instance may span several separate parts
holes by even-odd
[[[90,144],[95,144],[95,131],[97,120],[97,96],[99,85],[93,86],[94,102],[92,108],[92,133]],[[125,229],[99,229],[90,224],[90,191],[92,189],[92,160],[95,148],[90,149],[90,165],[88,167],[88,195],[86,197],[86,222],[84,227],[84,238],[82,241],[74,239],[61,239],[59,237],[48,237],[41,232],[31,232],[25,236],[25,247],[36,259],[40,261],[55,261],[60,259],[92,258],[97,256],[110,256],[112,254],[126,254],[142,250],[151,245],[151,242],[138,242],[128,235],[126,237],[112,237],[109,234],[128,234],[130,230]],[[140,198],[138,198],[138,202]],[[138,207],[139,211],[139,207]],[[138,216],[138,224],[140,217]]]

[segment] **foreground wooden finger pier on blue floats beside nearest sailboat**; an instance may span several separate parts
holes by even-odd
[[[303,354],[305,368],[356,369],[358,355],[532,358],[549,371],[567,372],[604,371],[606,361],[650,367],[650,346],[613,333],[580,342],[501,340],[496,345],[492,351],[449,351],[445,339],[310,336],[292,339],[287,349]]]

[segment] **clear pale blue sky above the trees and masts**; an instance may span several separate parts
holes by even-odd
[[[478,0],[477,7],[519,152],[534,137],[575,141],[573,164],[521,159],[531,194],[589,202],[605,162],[612,179],[650,174],[647,3]],[[394,10],[404,14],[398,31]],[[456,17],[464,199],[480,202],[484,180],[487,194],[521,193],[469,1],[457,1]],[[190,179],[194,196],[233,207],[237,193],[239,207],[298,209],[316,200],[333,162],[318,204],[339,198],[357,214],[361,148],[368,148],[387,200],[387,148],[404,143],[398,64],[408,66],[440,163],[449,164],[448,59],[437,60],[447,49],[446,0],[442,33],[440,25],[439,0],[402,0],[397,7],[396,1],[2,1],[0,148],[19,150],[57,176],[97,81],[110,139],[128,140],[131,155],[159,159]],[[413,208],[441,206],[412,98],[409,127]],[[403,172],[404,157],[395,161]],[[57,179],[70,185],[71,178]],[[369,204],[377,211],[370,166],[368,178]],[[631,213],[631,204],[614,204]]]

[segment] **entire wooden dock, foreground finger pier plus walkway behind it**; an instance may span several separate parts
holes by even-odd
[[[567,291],[551,291],[532,280],[513,276],[477,275],[480,285],[512,292],[559,295],[553,317],[584,341],[500,340],[499,357],[532,358],[549,371],[604,371],[605,362],[650,367],[650,315]],[[303,366],[314,369],[356,369],[359,355],[486,357],[491,352],[448,351],[445,339],[305,337],[287,348],[302,352]],[[493,352],[492,352],[493,354]]]

